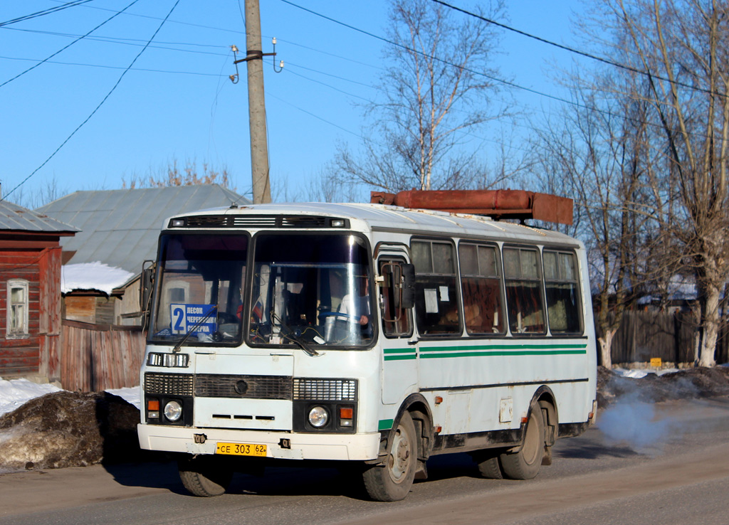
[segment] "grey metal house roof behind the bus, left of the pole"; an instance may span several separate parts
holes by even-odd
[[[61,239],[63,250],[76,252],[68,264],[100,261],[136,275],[142,261],[157,256],[157,237],[165,218],[233,202],[246,205],[250,201],[208,184],[75,192],[36,211],[81,230],[75,237]]]

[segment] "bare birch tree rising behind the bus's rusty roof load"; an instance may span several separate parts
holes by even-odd
[[[501,0],[485,13],[503,15]],[[484,166],[468,133],[503,116],[486,95],[496,92],[491,60],[497,36],[491,26],[454,20],[427,0],[393,0],[388,64],[380,79],[383,99],[367,106],[372,122],[359,153],[341,146],[340,175],[380,189],[458,189],[483,185]]]

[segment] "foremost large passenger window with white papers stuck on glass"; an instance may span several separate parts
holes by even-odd
[[[416,272],[416,324],[421,336],[461,333],[453,245],[417,240],[411,250]]]

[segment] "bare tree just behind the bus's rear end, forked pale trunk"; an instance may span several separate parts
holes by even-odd
[[[607,76],[609,79],[609,76]],[[572,74],[574,106],[558,124],[535,126],[542,191],[569,195],[576,205],[571,233],[585,240],[596,291],[601,362],[612,366],[612,339],[625,311],[655,279],[647,251],[660,237],[652,195],[647,104],[606,91],[603,71]],[[633,79],[628,79],[632,82]]]

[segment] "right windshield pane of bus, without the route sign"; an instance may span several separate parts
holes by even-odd
[[[259,234],[253,345],[365,347],[373,342],[367,244],[354,234]]]

